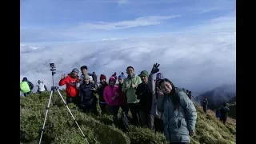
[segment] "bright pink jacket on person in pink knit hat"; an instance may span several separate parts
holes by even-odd
[[[118,93],[118,86],[111,87],[106,86],[103,92],[103,98],[105,99],[105,102],[108,106],[120,106],[120,96],[116,97],[114,100],[112,98],[114,97],[115,93]]]

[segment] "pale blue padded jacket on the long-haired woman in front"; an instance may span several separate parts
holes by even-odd
[[[190,142],[189,130],[195,129],[197,112],[194,103],[180,89],[176,88],[179,97],[178,109],[174,110],[169,96],[158,96],[158,111],[164,113],[163,125],[166,140],[171,142]]]

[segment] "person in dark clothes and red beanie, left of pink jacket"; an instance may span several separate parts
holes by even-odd
[[[99,86],[98,86],[98,103],[99,103],[99,106],[102,110],[102,114],[106,114],[106,102],[105,102],[105,99],[103,98],[103,92],[104,92],[104,89],[106,86],[108,86],[107,82],[106,82],[106,76],[104,74],[101,74],[100,76],[100,83],[99,83]]]

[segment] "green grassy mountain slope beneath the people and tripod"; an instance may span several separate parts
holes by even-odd
[[[49,93],[31,94],[27,98],[21,98],[20,102],[20,141],[21,143],[36,143],[41,133],[43,120],[46,113],[46,105]],[[62,91],[65,98],[65,93]],[[45,143],[79,144],[85,143],[81,132],[74,123],[60,98],[55,96],[55,117],[53,108],[50,106],[46,121],[46,131],[43,134]],[[202,107],[195,105],[198,110],[198,122],[196,125],[196,136],[190,143],[224,144],[235,143],[236,125],[234,119],[229,119],[224,126],[212,111],[203,114]],[[70,110],[77,118],[79,126],[90,143],[163,143],[163,134],[154,134],[146,128],[131,126],[130,130],[123,133],[113,125],[110,115],[95,117],[84,114],[74,105],[69,105]],[[99,110],[99,106],[98,106]],[[55,125],[54,125],[55,124]]]

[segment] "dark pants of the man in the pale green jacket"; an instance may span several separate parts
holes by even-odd
[[[129,109],[130,109],[130,113],[132,115],[132,120],[131,120],[131,124],[135,125],[135,126],[139,126],[140,125],[140,115],[139,115],[139,104],[138,103],[129,103],[128,104]]]

